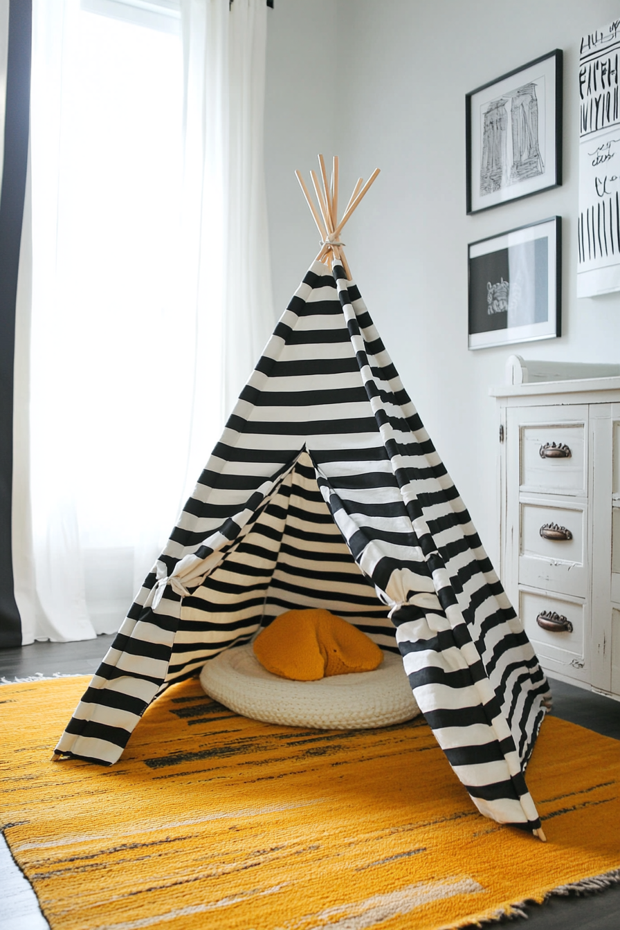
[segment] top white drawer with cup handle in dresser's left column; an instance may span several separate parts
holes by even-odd
[[[585,422],[521,426],[521,490],[587,496]]]

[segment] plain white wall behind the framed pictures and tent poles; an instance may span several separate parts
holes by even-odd
[[[578,43],[618,15],[616,0],[279,0],[270,18],[276,295],[285,301],[280,274],[289,292],[296,286],[316,240],[295,179],[284,187],[285,173],[307,172],[317,152],[331,154],[334,146],[347,187],[379,166],[347,228],[347,255],[495,564],[497,420],[487,392],[503,382],[508,354],[620,361],[620,294],[575,297]],[[466,216],[466,92],[557,47],[564,51],[562,187]],[[561,339],[468,352],[468,242],[556,214]],[[293,262],[284,272],[280,256]]]

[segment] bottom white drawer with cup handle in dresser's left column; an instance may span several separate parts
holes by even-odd
[[[587,680],[588,671],[584,654],[587,640],[586,604],[568,598],[549,595],[545,592],[520,591],[521,622],[541,665],[547,671],[559,671],[563,675]],[[547,614],[547,618],[543,615]],[[553,618],[565,618],[572,626],[570,631],[548,631],[540,627],[536,618],[543,622]]]

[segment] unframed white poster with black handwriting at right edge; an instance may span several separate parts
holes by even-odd
[[[620,20],[579,48],[577,297],[620,290]]]

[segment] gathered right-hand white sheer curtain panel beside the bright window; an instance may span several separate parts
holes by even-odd
[[[267,5],[181,0],[181,20],[185,228],[198,268],[188,280],[197,282],[199,305],[226,308],[213,326],[228,415],[274,322],[263,162]]]

